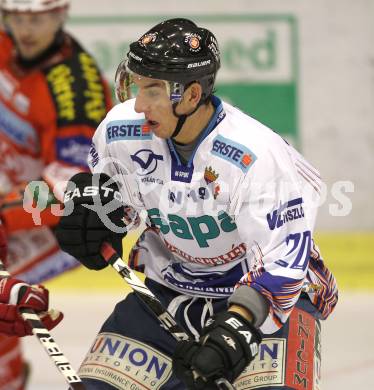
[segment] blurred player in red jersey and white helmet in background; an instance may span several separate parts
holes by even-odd
[[[48,194],[48,185],[54,188],[87,169],[92,135],[112,106],[94,59],[64,31],[69,3],[0,0],[0,219],[8,270],[30,284],[79,263],[54,237],[59,216],[49,207],[53,197],[40,191],[27,211],[25,186],[41,179]],[[30,214],[32,207],[37,215]],[[0,367],[1,390],[24,387],[26,366],[17,337],[0,336]]]

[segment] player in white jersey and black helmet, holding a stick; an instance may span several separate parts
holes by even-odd
[[[93,174],[68,186],[62,249],[100,270],[101,244],[120,250],[127,221],[147,215],[129,262],[191,335],[176,342],[130,293],[80,367],[88,389],[205,390],[217,378],[318,388],[319,321],[337,302],[313,241],[321,179],[213,94],[219,67],[215,36],[187,19],[133,42],[117,71],[123,103],[93,139]]]

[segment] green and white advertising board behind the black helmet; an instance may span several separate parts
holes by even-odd
[[[297,145],[296,19],[273,14],[185,17],[210,29],[220,43],[222,67],[216,94]],[[68,27],[112,81],[129,42],[165,18],[75,15]]]

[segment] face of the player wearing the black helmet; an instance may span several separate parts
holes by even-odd
[[[165,81],[136,74],[133,81],[137,86],[135,111],[144,113],[147,124],[157,137],[170,138],[178,119],[173,114]]]

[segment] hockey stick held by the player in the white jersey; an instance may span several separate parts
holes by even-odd
[[[163,307],[159,299],[136,276],[135,272],[118,256],[117,252],[108,243],[101,247],[101,255],[118,272],[122,279],[130,285],[135,294],[148,306],[161,324],[177,340],[188,340],[190,337],[186,331],[178,325],[174,317]],[[224,378],[215,381],[220,390],[235,390]]]

